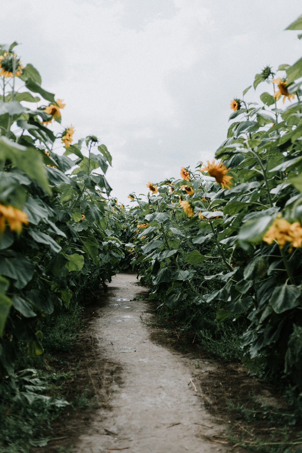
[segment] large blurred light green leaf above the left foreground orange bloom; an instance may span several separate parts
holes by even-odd
[[[42,154],[38,149],[17,145],[6,137],[0,138],[0,160],[9,159],[13,165],[35,179],[47,193],[51,194],[43,166]],[[34,165],[33,165],[34,162]]]

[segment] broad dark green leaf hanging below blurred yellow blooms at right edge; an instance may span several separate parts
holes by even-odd
[[[299,306],[300,296],[301,289],[296,285],[283,284],[283,286],[277,286],[273,290],[273,294],[269,299],[268,304],[276,313],[283,313],[286,310]]]

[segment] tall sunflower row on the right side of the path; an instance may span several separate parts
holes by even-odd
[[[147,201],[129,194],[126,246],[167,318],[204,341],[236,331],[246,354],[301,388],[302,59],[265,67],[260,83],[259,104],[245,101],[252,86],[231,101],[216,159],[149,181]]]

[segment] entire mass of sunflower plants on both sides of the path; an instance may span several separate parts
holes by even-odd
[[[52,131],[65,104],[16,45],[0,48],[1,380],[14,386],[20,347],[43,354],[46,319],[130,270],[167,321],[209,347],[232,337],[229,355],[302,388],[302,58],[265,67],[231,101],[216,159],[149,181],[125,208],[110,198],[106,146],[73,143],[73,125]],[[259,103],[245,101],[260,84]]]

